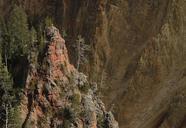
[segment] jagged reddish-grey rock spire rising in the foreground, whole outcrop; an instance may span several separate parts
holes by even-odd
[[[23,128],[118,128],[97,96],[97,84],[70,64],[64,39],[54,26],[46,30],[42,66],[31,64],[21,100]]]

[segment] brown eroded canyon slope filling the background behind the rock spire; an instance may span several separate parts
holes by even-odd
[[[47,15],[40,9],[50,6],[49,15],[68,33],[74,64],[71,44],[77,35],[91,44],[90,64],[83,70],[98,81],[122,128],[186,127],[184,0],[26,0],[23,5],[32,16]]]

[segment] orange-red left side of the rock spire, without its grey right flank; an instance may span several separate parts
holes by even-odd
[[[53,31],[57,30],[57,31]],[[23,127],[30,125],[30,122],[35,122],[34,127],[37,127],[38,120],[45,117],[44,109],[52,107],[53,112],[58,107],[64,105],[60,99],[60,88],[57,87],[56,81],[68,83],[68,75],[75,72],[73,65],[69,63],[68,53],[64,39],[60,36],[59,31],[55,27],[49,27],[47,32],[52,32],[51,40],[47,45],[46,56],[43,59],[44,68],[36,72],[30,68],[30,72],[26,82],[25,96],[22,99],[22,118],[25,120]],[[47,36],[51,36],[48,35]],[[55,86],[55,87],[53,87]],[[46,125],[47,127],[49,126]]]

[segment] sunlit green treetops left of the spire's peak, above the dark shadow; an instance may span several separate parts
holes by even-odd
[[[44,29],[53,24],[52,18],[46,17],[39,24],[29,24],[28,16],[20,6],[13,5],[8,18],[0,18],[0,45],[3,59],[27,57],[33,46],[43,53],[45,48]]]

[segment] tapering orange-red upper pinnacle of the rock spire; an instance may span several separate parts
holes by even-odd
[[[74,72],[74,66],[69,63],[68,53],[65,46],[65,40],[60,36],[59,31],[55,27],[48,28],[48,31],[56,30],[56,34],[53,35],[52,41],[48,46],[49,66],[51,70],[50,77],[53,79],[63,79],[62,77],[67,75],[66,73]],[[50,33],[51,34],[51,33]],[[64,71],[62,67],[65,67],[67,71]]]

